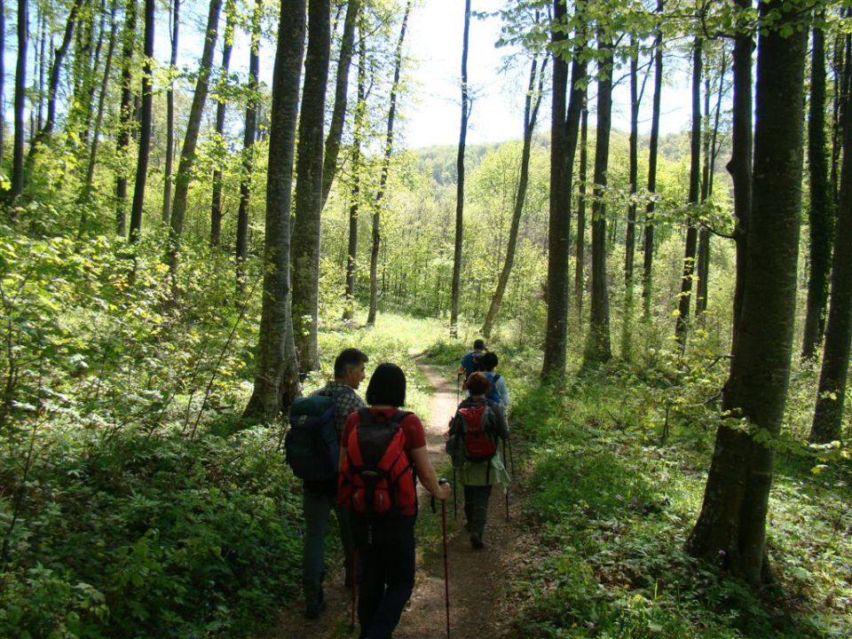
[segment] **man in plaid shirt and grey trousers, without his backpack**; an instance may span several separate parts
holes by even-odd
[[[337,439],[343,434],[343,425],[350,413],[366,406],[355,390],[364,379],[364,365],[367,355],[358,349],[350,348],[341,352],[335,359],[335,379],[323,388],[311,393],[335,400],[335,430]],[[352,535],[349,523],[349,510],[337,502],[337,477],[327,481],[304,482],[304,546],[302,556],[302,586],[304,588],[305,616],[317,619],[325,610],[326,602],[322,592],[325,576],[325,536],[328,515],[332,510],[337,516],[340,527],[340,540],[346,558],[345,585],[351,587],[352,580]]]

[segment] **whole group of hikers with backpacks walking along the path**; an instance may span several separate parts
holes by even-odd
[[[359,639],[390,639],[414,590],[417,482],[442,502],[451,486],[432,467],[420,418],[400,410],[406,404],[401,368],[380,364],[367,384],[367,402],[359,397],[367,361],[363,351],[342,351],[335,359],[335,379],[296,399],[285,449],[304,482],[305,617],[317,619],[326,608],[325,534],[334,511],[344,553],[343,585],[352,589],[353,602],[357,585]],[[498,361],[482,340],[461,359],[459,393],[463,388],[466,397],[446,442],[454,476],[464,487],[465,530],[474,549],[485,545],[492,486],[509,484],[498,446],[499,439],[509,438],[509,390],[494,372]]]

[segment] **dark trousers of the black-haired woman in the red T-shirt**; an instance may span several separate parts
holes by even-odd
[[[390,639],[414,590],[414,522],[416,517],[352,514],[358,550],[360,639]],[[370,528],[372,527],[372,531]],[[372,537],[372,539],[370,539]]]

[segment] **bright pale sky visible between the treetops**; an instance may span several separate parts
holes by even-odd
[[[474,12],[494,11],[503,0],[472,0]],[[464,27],[464,0],[420,0],[410,19],[407,51],[413,58],[409,75],[419,85],[418,97],[409,99],[403,109],[402,143],[409,148],[431,145],[457,145],[461,127],[461,39]],[[511,75],[499,68],[507,51],[494,46],[500,34],[497,18],[471,19],[469,31],[468,81],[474,95],[469,119],[469,144],[519,139],[523,133],[524,91],[528,63]],[[667,61],[667,64],[669,62]],[[616,75],[617,79],[619,74]],[[648,82],[640,130],[651,128],[652,78]],[[591,91],[594,91],[592,88]],[[660,132],[666,134],[689,127],[690,90],[688,77],[674,74],[663,94]],[[628,130],[627,80],[614,89],[612,126]],[[549,123],[549,104],[542,104],[539,130]],[[594,111],[594,104],[590,104]],[[594,122],[590,118],[590,122]]]

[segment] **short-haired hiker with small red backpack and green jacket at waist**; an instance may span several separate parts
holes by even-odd
[[[471,374],[467,386],[470,397],[461,402],[450,422],[446,452],[464,485],[464,528],[470,533],[470,545],[479,549],[484,546],[491,487],[509,488],[509,474],[497,446],[498,438],[509,438],[509,426],[502,406],[486,398],[491,383],[484,373]]]

